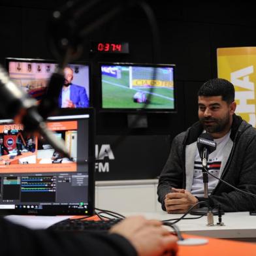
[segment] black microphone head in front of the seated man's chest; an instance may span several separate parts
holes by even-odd
[[[216,142],[210,133],[202,133],[197,139],[197,148],[202,159],[202,167],[207,167],[207,161],[210,153],[216,150]]]

